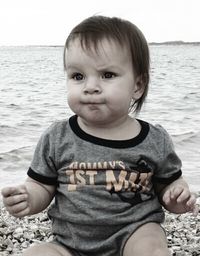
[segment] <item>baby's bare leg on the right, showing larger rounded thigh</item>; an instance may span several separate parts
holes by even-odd
[[[147,223],[129,238],[123,256],[170,256],[167,239],[157,223]]]

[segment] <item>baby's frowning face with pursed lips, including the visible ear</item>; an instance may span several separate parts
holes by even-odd
[[[132,98],[140,98],[143,89],[125,47],[103,39],[98,51],[92,49],[83,49],[78,38],[69,45],[68,103],[88,125],[114,124],[127,117]]]

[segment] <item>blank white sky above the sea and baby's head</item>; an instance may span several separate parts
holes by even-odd
[[[63,45],[92,15],[133,22],[148,42],[200,41],[200,0],[0,0],[0,46]]]

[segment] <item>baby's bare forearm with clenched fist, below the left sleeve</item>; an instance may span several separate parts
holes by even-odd
[[[44,210],[54,197],[55,186],[28,177],[24,184],[3,188],[1,193],[8,212],[15,217],[24,217]]]

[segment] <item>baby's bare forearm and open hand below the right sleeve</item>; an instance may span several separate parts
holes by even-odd
[[[168,211],[177,214],[186,212],[198,214],[196,197],[190,192],[188,184],[182,177],[167,186],[158,186],[157,192],[161,204]]]

